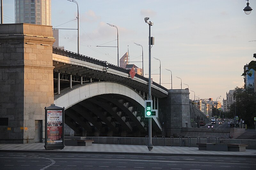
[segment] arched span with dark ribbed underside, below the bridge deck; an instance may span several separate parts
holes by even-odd
[[[144,136],[144,98],[124,84],[102,81],[76,85],[54,96],[57,106],[65,107],[65,123],[86,136]],[[161,132],[154,119],[153,130]]]

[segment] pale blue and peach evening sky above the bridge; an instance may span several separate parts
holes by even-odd
[[[151,74],[161,85],[190,90],[190,99],[226,99],[226,92],[244,86],[243,67],[256,53],[256,0],[249,0],[252,12],[243,11],[245,0],[76,0],[79,7],[80,54],[117,65],[128,51],[130,64],[142,68],[148,77],[149,26],[151,36]],[[14,1],[3,0],[4,24],[14,23]],[[67,0],[52,0],[53,28],[77,28],[77,6]],[[59,30],[59,46],[77,52],[77,30]],[[155,60],[153,57],[159,59]],[[180,77],[181,80],[179,78]],[[185,84],[188,84],[185,85]],[[196,98],[197,98],[196,97]]]

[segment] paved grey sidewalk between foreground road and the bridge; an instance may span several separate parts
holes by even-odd
[[[65,153],[109,153],[109,154],[144,154],[144,155],[183,155],[183,156],[228,156],[256,158],[256,150],[244,152],[203,151],[197,147],[154,146],[148,151],[145,145],[93,144],[92,146],[65,146],[62,150],[45,150],[44,143],[0,144],[0,152],[65,152]]]

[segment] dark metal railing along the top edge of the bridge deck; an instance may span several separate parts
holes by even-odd
[[[68,50],[63,50],[61,48],[52,47],[52,53],[62,55],[62,56],[66,56],[66,57],[70,57],[70,58],[74,58],[74,59],[77,59],[77,60],[90,62],[90,63],[93,63],[93,64],[97,64],[99,66],[106,66],[106,62],[104,62],[104,61],[97,60],[97,59],[94,59],[94,58],[86,56],[86,55],[77,54],[77,53],[74,53],[74,52],[71,52],[71,51],[68,51]],[[108,64],[108,68],[111,68],[111,69],[114,69],[116,71],[120,71],[120,72],[123,72],[123,73],[127,73],[127,74],[129,74],[129,72],[130,72],[130,70],[127,70],[127,69],[122,68],[122,67],[118,67],[118,66],[113,65],[113,64]],[[138,77],[138,78],[148,82],[148,78],[143,77],[139,74],[135,74],[135,77]],[[153,81],[153,84],[155,86],[167,91],[167,89],[165,87],[161,86],[160,84],[157,84],[154,81]]]

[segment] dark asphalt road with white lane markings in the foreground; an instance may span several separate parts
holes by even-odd
[[[256,158],[212,156],[151,156],[79,153],[0,152],[4,170],[66,169],[255,169]]]

